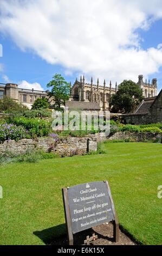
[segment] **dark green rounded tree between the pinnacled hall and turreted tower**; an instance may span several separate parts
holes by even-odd
[[[111,97],[110,105],[114,113],[131,113],[144,97],[142,89],[131,80],[124,80],[118,87],[118,92]]]

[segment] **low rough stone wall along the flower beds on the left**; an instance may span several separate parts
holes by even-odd
[[[39,138],[21,139],[20,141],[5,141],[0,144],[0,154],[6,151],[15,155],[24,154],[33,149],[42,149],[46,152],[53,152],[60,156],[83,155],[88,151],[97,150],[97,140],[93,137],[85,138]]]

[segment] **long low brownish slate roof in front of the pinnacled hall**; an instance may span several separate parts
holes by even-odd
[[[100,110],[100,105],[97,102],[84,102],[84,101],[67,101],[66,107],[70,109],[93,109]]]

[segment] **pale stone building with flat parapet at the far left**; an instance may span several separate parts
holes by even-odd
[[[0,100],[3,99],[4,96],[10,97],[30,109],[38,97],[47,97],[47,92],[34,89],[21,89],[14,83],[0,83]]]

